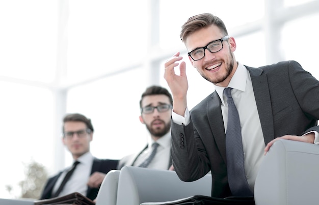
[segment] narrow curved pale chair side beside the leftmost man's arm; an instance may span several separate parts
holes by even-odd
[[[96,196],[96,205],[116,205],[119,175],[120,170],[111,170],[105,175]]]

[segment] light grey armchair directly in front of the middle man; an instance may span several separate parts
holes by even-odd
[[[171,201],[198,194],[211,195],[211,174],[182,182],[175,171],[126,166],[120,172],[117,205]]]

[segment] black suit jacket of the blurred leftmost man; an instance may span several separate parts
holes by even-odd
[[[116,169],[118,164],[118,160],[110,160],[110,159],[94,159],[91,169],[91,174],[95,171],[102,172],[102,173],[108,173],[111,170]],[[59,179],[60,175],[62,174],[62,171],[59,172],[54,177],[48,179],[46,185],[44,186],[44,190],[41,194],[40,199],[46,199],[51,198],[52,190]],[[87,197],[94,200],[97,196],[99,188],[90,188],[88,187],[87,191]]]

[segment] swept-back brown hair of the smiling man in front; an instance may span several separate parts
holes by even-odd
[[[190,17],[182,26],[180,32],[180,39],[184,42],[187,37],[189,37],[194,32],[200,30],[201,28],[208,27],[210,25],[216,25],[219,27],[223,35],[228,35],[226,26],[222,19],[214,16],[210,13],[203,13],[196,16]]]

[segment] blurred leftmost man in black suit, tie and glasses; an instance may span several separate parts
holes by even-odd
[[[90,142],[93,140],[94,129],[86,116],[79,113],[67,114],[63,123],[62,141],[70,151],[74,163],[48,179],[40,199],[79,192],[94,200],[105,174],[116,169],[118,160],[97,159],[92,156]]]

